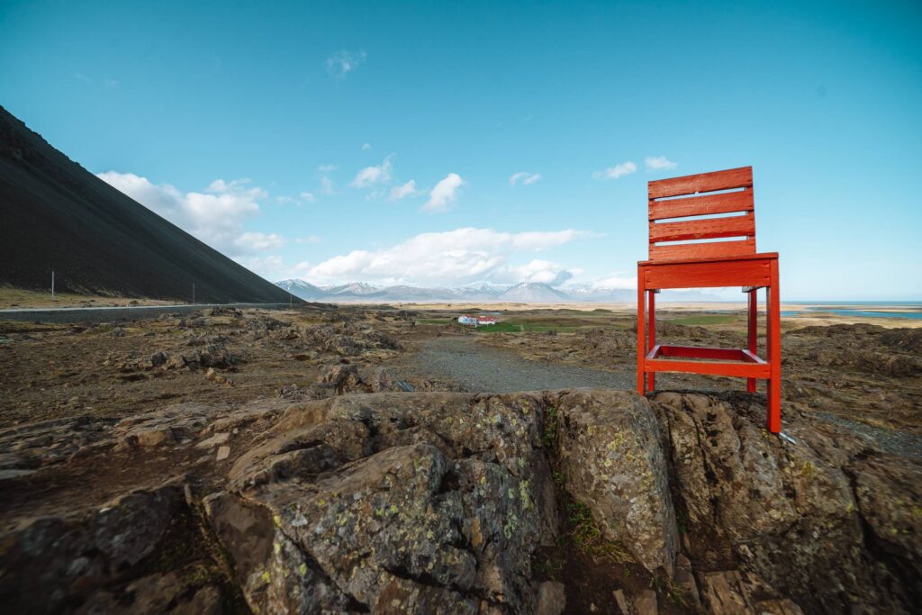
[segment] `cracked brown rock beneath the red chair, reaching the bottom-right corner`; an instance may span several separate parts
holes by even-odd
[[[793,443],[769,436],[751,396],[661,393],[653,402],[692,560],[740,562],[810,612],[917,603],[917,465],[797,412],[785,416]]]

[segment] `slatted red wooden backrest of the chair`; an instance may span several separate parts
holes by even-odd
[[[648,194],[650,260],[755,254],[752,167],[650,182]],[[714,239],[725,241],[698,241]]]

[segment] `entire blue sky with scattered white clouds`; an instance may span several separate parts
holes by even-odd
[[[270,279],[630,288],[751,164],[783,299],[922,299],[918,2],[223,4],[0,0],[0,104]]]

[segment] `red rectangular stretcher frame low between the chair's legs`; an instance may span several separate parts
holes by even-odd
[[[771,375],[771,365],[747,349],[657,344],[646,354],[644,364],[647,372],[704,373],[743,378],[768,378]]]

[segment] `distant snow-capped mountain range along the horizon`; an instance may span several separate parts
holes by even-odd
[[[571,286],[556,289],[548,284],[522,282],[514,286],[462,286],[456,288],[415,286],[376,287],[364,282],[351,282],[340,286],[315,286],[301,279],[285,279],[276,282],[282,290],[287,290],[295,297],[306,301],[324,301],[333,303],[561,303],[561,302],[634,302],[636,290],[599,290],[585,286]],[[661,302],[722,302],[713,294],[691,291],[664,290],[659,297]]]

